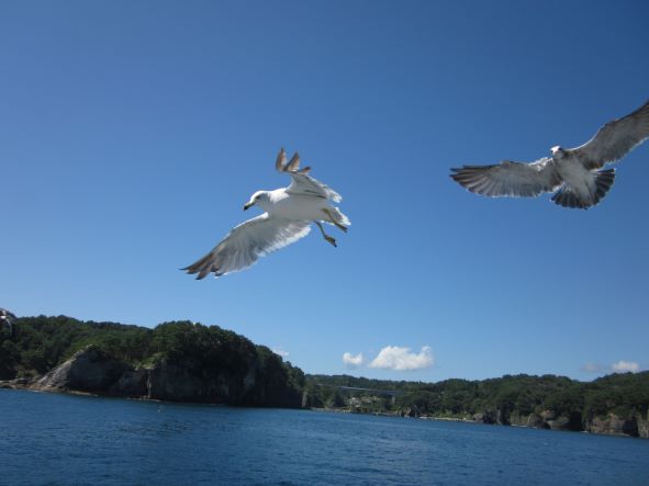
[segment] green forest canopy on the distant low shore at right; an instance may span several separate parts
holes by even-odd
[[[395,399],[385,399],[387,409],[416,409],[435,416],[472,416],[484,410],[508,414],[558,415],[580,411],[584,416],[614,412],[626,416],[634,411],[646,415],[649,409],[649,372],[612,374],[592,382],[578,382],[566,376],[505,375],[500,378],[468,381],[445,380],[437,383],[358,378],[349,375],[306,375],[313,406],[332,406],[358,391],[340,387],[395,391]],[[347,396],[344,396],[347,395]],[[377,394],[366,393],[365,396]],[[390,398],[390,395],[384,395]],[[394,402],[393,405],[390,403]]]

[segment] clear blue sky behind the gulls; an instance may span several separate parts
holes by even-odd
[[[215,324],[309,373],[648,369],[649,144],[588,212],[448,177],[581,145],[638,108],[648,14],[640,1],[2,2],[0,306]],[[180,272],[249,217],[253,192],[288,184],[280,146],[343,194],[338,248],[313,231],[245,272]],[[419,369],[367,365],[395,348]]]

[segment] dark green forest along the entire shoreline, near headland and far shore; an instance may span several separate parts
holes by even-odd
[[[240,384],[253,370],[255,388],[236,402],[243,405],[302,405],[533,427],[560,423],[557,428],[569,430],[585,430],[613,414],[631,423],[630,434],[641,434],[638,427],[645,427],[649,414],[649,372],[611,374],[592,382],[524,374],[437,383],[305,376],[264,346],[217,326],[190,321],[150,329],[65,316],[18,318],[0,329],[0,380],[43,375],[89,346],[132,369],[164,364],[203,381],[222,380],[225,373]]]

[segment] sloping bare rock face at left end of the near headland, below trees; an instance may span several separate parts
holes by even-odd
[[[130,366],[96,347],[77,351],[68,361],[51,370],[31,387],[46,392],[107,392]]]

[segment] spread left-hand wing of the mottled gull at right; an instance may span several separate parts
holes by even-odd
[[[463,166],[451,169],[450,177],[469,191],[497,197],[522,197],[553,192],[561,184],[552,159],[542,158],[531,163],[505,160],[493,166]]]

